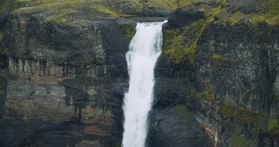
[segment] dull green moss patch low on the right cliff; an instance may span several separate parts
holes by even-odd
[[[262,113],[238,107],[230,102],[223,102],[219,112],[223,123],[231,128],[231,147],[256,147],[260,132],[267,130],[268,117]]]

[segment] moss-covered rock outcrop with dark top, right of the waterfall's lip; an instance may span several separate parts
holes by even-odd
[[[198,39],[203,29],[221,12],[221,6],[221,2],[216,5],[199,3],[177,9],[170,16],[169,26],[164,30],[163,48],[164,54],[170,55],[171,62],[180,64],[187,59],[194,65]]]

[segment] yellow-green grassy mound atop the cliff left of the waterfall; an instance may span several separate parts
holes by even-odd
[[[70,21],[67,19],[67,15],[78,15],[73,21],[81,23],[86,22],[89,16],[91,18],[98,18],[101,15],[128,16],[110,8],[110,5],[105,3],[105,0],[16,0],[16,2],[28,2],[29,7],[16,9],[13,11],[14,13],[43,12],[48,21],[54,22]],[[71,18],[73,19],[73,17]]]

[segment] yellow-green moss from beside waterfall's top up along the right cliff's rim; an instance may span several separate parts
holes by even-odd
[[[256,24],[258,22],[266,22],[269,25],[275,25],[279,23],[279,2],[278,0],[266,0],[259,8],[257,14],[244,14],[240,10],[235,12],[227,12],[226,7],[222,7],[225,0],[221,1],[217,7],[209,7],[203,4],[200,10],[205,12],[205,18],[193,22],[191,25],[179,29],[169,29],[164,31],[164,53],[170,55],[169,60],[175,64],[180,64],[186,61],[190,61],[194,64],[194,53],[197,48],[198,39],[208,24],[222,23],[229,24],[231,26],[238,23],[240,20],[245,19]],[[219,18],[218,18],[219,17]],[[218,18],[218,19],[216,19]],[[221,57],[220,55],[212,56],[214,60],[223,61],[236,61],[235,59],[229,59]]]

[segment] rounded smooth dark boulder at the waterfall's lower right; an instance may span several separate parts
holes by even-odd
[[[156,109],[149,140],[152,147],[212,147],[208,135],[191,116]]]

